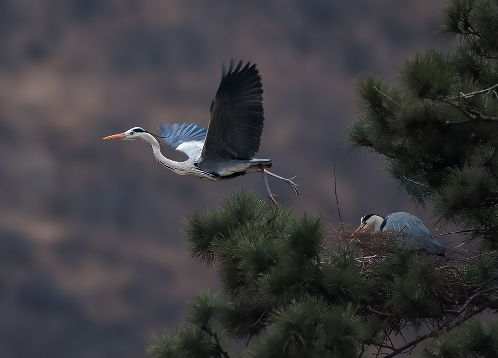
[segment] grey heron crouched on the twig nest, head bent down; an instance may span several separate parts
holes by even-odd
[[[413,244],[415,249],[444,256],[444,246],[434,239],[434,236],[419,218],[409,213],[392,213],[387,215],[385,219],[376,214],[365,215],[361,219],[361,226],[355,231],[355,234],[370,227],[379,231],[396,231],[401,233],[403,240]],[[408,235],[403,236],[403,233]]]

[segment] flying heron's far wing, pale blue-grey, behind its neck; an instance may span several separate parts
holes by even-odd
[[[189,158],[197,158],[201,154],[206,139],[206,128],[194,123],[166,123],[159,124],[158,128],[163,140],[173,149],[184,152]]]

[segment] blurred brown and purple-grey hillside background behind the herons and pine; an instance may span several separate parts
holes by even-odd
[[[410,205],[380,156],[347,152],[361,104],[353,78],[396,81],[406,56],[450,48],[443,0],[0,1],[0,357],[144,357],[186,302],[217,289],[180,231],[194,208],[259,174],[223,183],[175,175],[144,142],[101,138],[164,122],[207,125],[230,59],[257,63],[265,125],[258,156],[298,175],[296,213],[358,224]],[[182,153],[165,146],[176,160]],[[443,240],[444,242],[444,240]]]

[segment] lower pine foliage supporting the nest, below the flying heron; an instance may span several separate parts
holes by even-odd
[[[191,255],[217,270],[221,289],[190,303],[182,328],[149,349],[154,358],[394,357],[436,337],[427,352],[498,355],[498,326],[470,321],[498,308],[489,262],[417,254],[388,245],[392,234],[362,233],[361,242],[384,240],[372,260],[348,244],[352,230],[334,234],[321,217],[296,216],[243,191],[193,212],[184,231]],[[454,330],[468,322],[477,327],[472,336]],[[431,331],[394,346],[389,336],[408,327]]]

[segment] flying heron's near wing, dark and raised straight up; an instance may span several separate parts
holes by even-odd
[[[261,77],[256,65],[230,62],[209,112],[206,141],[199,161],[216,156],[253,158],[263,130]]]

